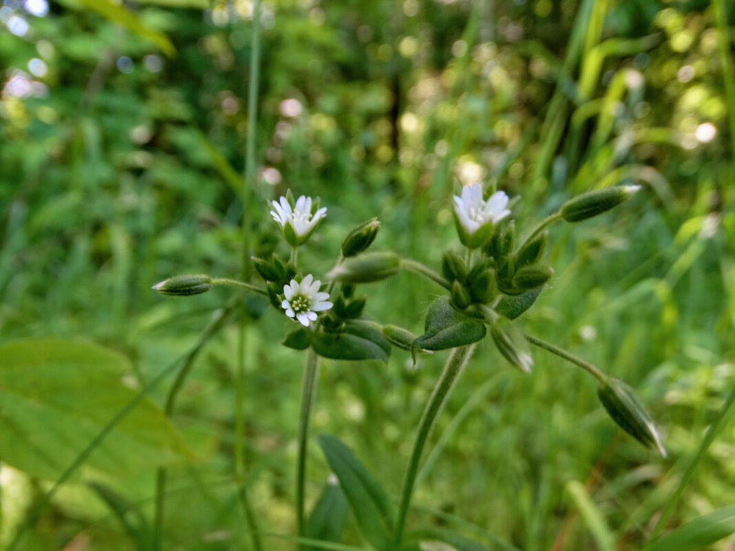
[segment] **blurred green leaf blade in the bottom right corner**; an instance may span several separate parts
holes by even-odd
[[[645,547],[645,551],[694,551],[735,533],[735,505],[698,516]]]

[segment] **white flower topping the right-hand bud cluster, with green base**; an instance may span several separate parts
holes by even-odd
[[[462,195],[454,195],[454,221],[462,244],[473,249],[484,245],[495,224],[510,215],[506,206],[508,195],[503,191],[483,201],[480,184],[462,188]]]

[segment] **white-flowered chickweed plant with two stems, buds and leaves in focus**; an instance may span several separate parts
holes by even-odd
[[[584,222],[622,204],[637,190],[637,186],[617,186],[579,195],[527,231],[523,239],[518,239],[510,208],[512,202],[506,193],[484,190],[480,183],[475,183],[463,187],[453,198],[459,239],[456,247],[437,258],[438,269],[395,252],[368,251],[381,228],[379,220],[373,218],[345,237],[339,258],[326,274],[312,273],[300,262],[298,252],[308,246],[309,237],[318,231],[328,209],[320,206],[318,199],[303,195],[296,199],[289,191],[269,205],[270,216],[283,237],[284,251],[289,253],[251,259],[262,281],[252,283],[203,274],[176,275],[153,288],[164,295],[191,296],[218,285],[240,287],[246,292],[265,295],[275,315],[293,320],[293,331],[284,336],[282,345],[304,350],[295,473],[298,527],[295,541],[316,545],[315,540],[339,539],[344,516],[330,511],[331,504],[337,502],[331,500],[329,492],[341,491],[362,536],[376,550],[419,550],[420,542],[429,537],[427,530],[406,532],[405,527],[423,452],[437,416],[459,383],[477,343],[487,334],[502,356],[523,373],[531,373],[534,366],[533,347],[581,367],[597,379],[600,403],[612,420],[645,446],[666,455],[659,432],[630,386],[561,347],[526,334],[518,321],[534,305],[553,275],[552,268],[544,262],[548,226]],[[373,320],[367,314],[368,298],[359,293],[362,284],[386,281],[400,270],[428,278],[444,289],[443,295],[429,306],[422,335]],[[420,354],[449,350],[415,431],[398,510],[395,511],[389,493],[345,444],[334,436],[321,434],[318,443],[339,488],[328,485],[307,515],[306,449],[320,358],[386,361],[392,348],[409,353],[414,362]],[[331,522],[339,526],[330,527]],[[430,539],[465,548],[457,543],[458,538],[442,530]]]

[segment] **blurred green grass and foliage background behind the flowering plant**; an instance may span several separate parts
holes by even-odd
[[[716,7],[265,2],[259,200],[247,207],[255,252],[276,243],[265,200],[289,187],[329,206],[304,251],[320,274],[349,229],[373,216],[383,228],[376,248],[438,266],[456,239],[449,200],[458,180],[520,196],[520,219],[603,185],[646,188],[625,209],[552,231],[557,273],[523,323],[634,383],[671,458],[618,436],[592,382],[556,359],[537,353],[523,376],[483,342],[440,418],[442,455],[409,521],[526,551],[592,549],[605,530],[617,549],[645,541],[735,376],[733,18],[723,13],[718,27]],[[165,299],[151,284],[239,271],[252,4],[130,1],[121,12],[91,0],[0,7],[0,334],[106,345],[132,361],[140,385],[228,298],[218,289]],[[398,296],[368,289],[370,314],[420,333],[425,297],[437,289],[405,273],[394,284],[405,289]],[[250,318],[265,306],[246,304]],[[247,329],[248,482],[273,533],[293,533],[301,356],[275,344],[291,328],[268,312]],[[236,334],[228,326],[207,347],[176,411],[185,438],[212,444],[206,458],[172,470],[168,549],[246,545],[229,475]],[[348,442],[392,497],[438,376],[434,356],[418,370],[395,351],[387,366],[323,369],[315,431]],[[313,503],[329,468],[311,453]],[[734,457],[730,426],[670,526],[733,503]],[[86,481],[146,516],[153,476],[151,465]],[[0,544],[48,487],[0,465]],[[64,486],[28,548],[131,549],[113,513],[119,501],[94,488]],[[600,518],[606,527],[589,526]],[[359,544],[354,520],[345,541]],[[268,540],[268,549],[291,547]]]

